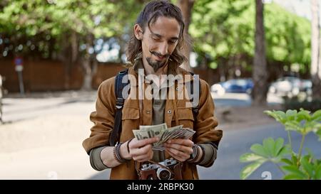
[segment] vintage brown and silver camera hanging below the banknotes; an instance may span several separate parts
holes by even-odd
[[[154,151],[155,153],[155,151]],[[159,158],[165,158],[165,151],[159,151]],[[141,180],[180,180],[182,179],[181,163],[173,158],[160,162],[144,163],[139,171]]]

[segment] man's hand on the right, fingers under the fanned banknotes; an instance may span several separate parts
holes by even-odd
[[[170,139],[164,143],[165,150],[178,161],[186,161],[193,153],[193,141],[190,139]]]

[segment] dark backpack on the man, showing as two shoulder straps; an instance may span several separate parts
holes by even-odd
[[[193,72],[190,72],[191,75],[193,75],[194,79],[198,79],[198,76],[195,76]],[[122,92],[123,88],[126,87],[126,85],[130,84],[128,80],[128,76],[125,77],[126,80],[123,80],[123,77],[125,75],[128,75],[128,69],[123,70],[121,72],[118,72],[116,75],[115,79],[115,95],[116,95],[116,114],[115,114],[115,121],[113,124],[113,131],[111,132],[111,136],[109,137],[109,144],[111,146],[115,146],[121,136],[121,117],[122,117],[122,112],[121,110],[123,109],[123,104],[125,102],[125,99],[127,97],[123,97]],[[200,81],[199,82],[199,94],[200,94]],[[190,85],[193,85],[193,80],[190,81]],[[190,87],[190,90],[188,88],[188,95],[190,96],[190,102],[193,101],[193,87]],[[200,95],[199,95],[200,96]],[[198,104],[192,107],[193,111],[193,117],[194,121],[196,121],[196,117],[198,116]]]

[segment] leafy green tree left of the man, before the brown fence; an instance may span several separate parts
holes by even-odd
[[[85,74],[83,89],[91,87],[96,68],[97,38],[118,38],[130,33],[134,17],[143,6],[142,0],[64,0],[0,3],[0,36],[6,36],[14,49],[24,45],[21,53],[40,58],[59,59],[65,65],[65,89],[74,65],[81,65]],[[131,11],[128,11],[131,10]],[[2,46],[2,45],[1,45]],[[1,49],[1,47],[0,47]],[[2,50],[2,49],[1,49]],[[2,52],[1,52],[2,53]],[[0,56],[1,57],[1,56]]]

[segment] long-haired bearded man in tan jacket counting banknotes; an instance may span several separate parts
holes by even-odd
[[[116,115],[115,77],[98,88],[96,112],[90,117],[94,126],[91,136],[83,141],[83,147],[90,155],[94,169],[111,168],[111,179],[138,179],[141,164],[155,158],[152,144],[158,138],[133,138],[133,130],[139,129],[140,125],[165,123],[168,127],[183,125],[195,131],[190,139],[171,139],[163,144],[165,158],[182,164],[183,179],[198,179],[196,165],[208,167],[215,161],[223,133],[215,130],[218,122],[213,115],[214,104],[208,84],[200,80],[197,85],[201,92],[195,119],[188,106],[190,99],[186,95],[178,97],[185,94],[188,83],[193,80],[190,72],[179,68],[185,60],[180,54],[183,31],[180,9],[168,1],[151,1],[138,16],[126,53],[131,63],[128,69],[130,97],[123,104],[120,144],[116,146],[109,142]],[[166,75],[173,75],[175,79],[168,79]],[[147,91],[151,85],[152,90]],[[152,97],[146,97],[150,93]]]

